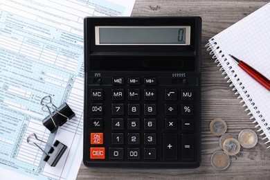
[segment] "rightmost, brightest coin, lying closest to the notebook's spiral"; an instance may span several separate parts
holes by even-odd
[[[242,147],[251,148],[257,144],[258,136],[251,129],[243,129],[238,135],[238,141]]]

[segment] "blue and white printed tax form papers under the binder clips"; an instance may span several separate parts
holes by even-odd
[[[83,19],[130,16],[135,0],[0,1],[0,179],[75,179],[82,162]],[[40,100],[66,102],[75,117],[51,133]],[[67,146],[55,167],[45,152]]]

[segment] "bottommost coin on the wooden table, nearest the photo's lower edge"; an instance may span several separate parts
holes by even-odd
[[[230,157],[223,151],[216,151],[211,156],[211,165],[216,170],[225,170],[230,163]]]

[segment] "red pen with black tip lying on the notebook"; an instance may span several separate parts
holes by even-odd
[[[233,58],[233,60],[235,60],[235,62],[237,62],[238,66],[240,66],[244,71],[246,71],[246,73],[251,75],[252,78],[254,78],[258,82],[260,82],[260,84],[262,84],[262,86],[264,86],[265,88],[267,88],[270,91],[270,80],[269,79],[267,79],[264,75],[259,73],[257,70],[253,69],[253,67],[249,66],[249,64],[246,64],[245,62],[237,59],[233,55],[230,55],[230,56]]]

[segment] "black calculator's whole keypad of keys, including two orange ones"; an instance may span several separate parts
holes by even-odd
[[[154,77],[116,77],[102,85],[90,90],[92,161],[195,159],[193,87],[163,86]]]

